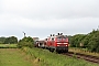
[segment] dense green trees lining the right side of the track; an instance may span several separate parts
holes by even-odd
[[[86,48],[99,53],[99,30],[92,30],[88,34],[76,34],[70,38],[72,47]]]

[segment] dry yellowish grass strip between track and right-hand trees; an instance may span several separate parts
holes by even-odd
[[[92,55],[92,56],[99,56],[99,53],[91,53],[91,52],[87,51],[86,48],[69,47],[69,52],[81,53],[81,54],[87,54],[87,55]]]

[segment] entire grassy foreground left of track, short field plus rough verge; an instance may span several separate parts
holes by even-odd
[[[0,66],[99,66],[42,48],[0,48]]]

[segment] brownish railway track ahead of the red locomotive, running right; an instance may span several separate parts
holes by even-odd
[[[97,63],[99,64],[99,57],[97,56],[91,56],[91,55],[86,55],[86,54],[80,54],[80,53],[74,53],[74,52],[68,52],[68,53],[63,53],[64,55],[72,56],[72,57],[77,57],[81,58],[91,63]]]

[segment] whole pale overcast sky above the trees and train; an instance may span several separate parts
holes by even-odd
[[[0,0],[0,36],[87,34],[99,25],[99,0]]]

